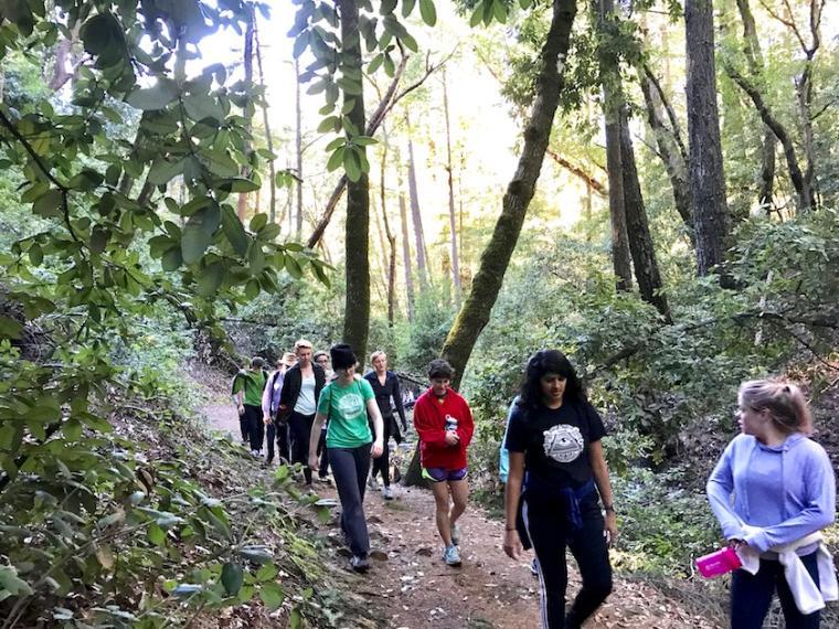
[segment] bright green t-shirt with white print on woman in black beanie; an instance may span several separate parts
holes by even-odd
[[[367,417],[367,403],[373,387],[363,379],[347,386],[329,383],[320,394],[318,413],[329,417],[327,448],[358,448],[373,440]]]

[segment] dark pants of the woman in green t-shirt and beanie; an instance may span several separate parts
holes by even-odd
[[[341,531],[350,542],[353,555],[367,557],[370,534],[364,519],[364,487],[370,472],[372,444],[358,448],[327,448],[329,465],[341,500]]]

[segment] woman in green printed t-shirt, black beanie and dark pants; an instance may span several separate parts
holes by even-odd
[[[329,353],[336,379],[320,393],[318,413],[309,439],[309,467],[318,469],[318,437],[329,418],[327,456],[341,500],[341,531],[349,539],[352,558],[350,567],[359,573],[370,568],[370,535],[364,519],[364,487],[370,471],[370,456],[382,456],[383,423],[375,403],[373,387],[355,376],[355,354],[339,343]],[[370,434],[368,415],[373,419],[375,440]]]

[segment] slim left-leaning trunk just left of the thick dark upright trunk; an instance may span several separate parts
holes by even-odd
[[[668,105],[661,102],[661,95],[656,89],[650,68],[646,65],[639,68],[638,78],[641,93],[644,94],[644,105],[647,110],[647,124],[656,138],[658,154],[665,164],[667,177],[670,180],[676,211],[681,216],[682,223],[684,223],[691,244],[695,246],[689,167],[687,154],[682,152],[683,147],[680,149],[679,140],[677,140],[678,128],[672,130],[665,124],[661,107],[667,107]]]

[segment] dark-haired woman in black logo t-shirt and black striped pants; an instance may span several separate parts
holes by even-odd
[[[514,559],[521,555],[516,518],[522,500],[524,525],[539,559],[544,629],[580,627],[612,591],[608,544],[617,535],[617,523],[601,446],[605,434],[567,358],[556,350],[533,354],[507,433],[503,548]],[[565,546],[583,579],[567,616]]]

